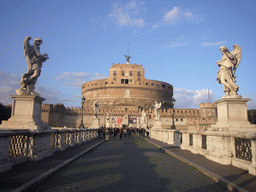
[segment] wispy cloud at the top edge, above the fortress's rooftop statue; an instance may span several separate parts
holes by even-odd
[[[126,5],[114,3],[112,4],[112,11],[108,15],[119,26],[137,26],[142,27],[145,24],[144,19],[139,18],[141,7],[143,3],[137,4],[136,1],[128,2]]]

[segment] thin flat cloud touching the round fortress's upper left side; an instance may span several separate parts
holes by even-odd
[[[81,88],[82,84],[87,81],[106,79],[104,74],[100,73],[85,73],[85,72],[63,72],[60,76],[55,77],[55,80],[64,82],[65,85]]]

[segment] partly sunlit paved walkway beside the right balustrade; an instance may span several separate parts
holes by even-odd
[[[256,191],[256,176],[249,174],[246,170],[232,165],[220,165],[204,158],[202,155],[181,150],[180,148],[152,138],[144,139],[163,149],[166,153],[196,167],[204,174],[212,177],[215,181],[227,186],[230,190]]]

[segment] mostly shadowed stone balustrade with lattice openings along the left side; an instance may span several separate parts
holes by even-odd
[[[0,172],[25,161],[38,161],[56,151],[80,145],[97,137],[96,129],[52,128],[46,131],[1,131]]]

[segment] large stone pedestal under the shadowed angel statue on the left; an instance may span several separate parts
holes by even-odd
[[[11,97],[13,98],[11,118],[3,121],[0,129],[51,129],[41,120],[44,98],[36,95],[11,95]]]

